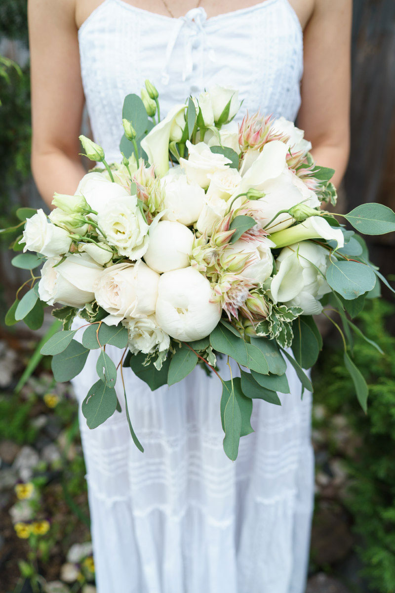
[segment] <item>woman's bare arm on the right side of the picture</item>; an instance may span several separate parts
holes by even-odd
[[[339,186],[349,153],[351,0],[315,0],[304,30],[304,74],[298,126],[314,160],[336,173]]]

